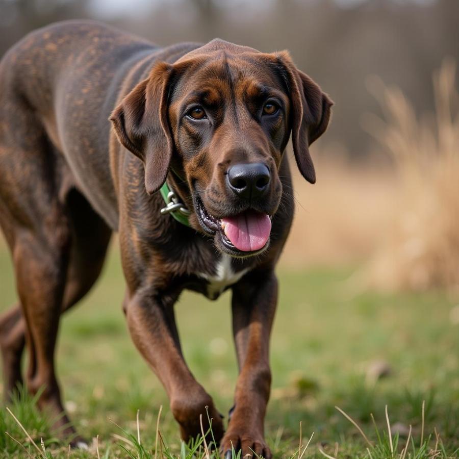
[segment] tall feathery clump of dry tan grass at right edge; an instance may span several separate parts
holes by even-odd
[[[459,288],[459,95],[455,65],[433,75],[435,118],[418,119],[397,88],[378,79],[370,90],[384,119],[370,116],[366,129],[389,152],[398,175],[391,230],[371,264],[383,288]]]

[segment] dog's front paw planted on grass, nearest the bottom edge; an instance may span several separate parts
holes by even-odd
[[[261,435],[239,434],[234,430],[228,430],[220,442],[220,451],[224,459],[232,458],[232,448],[236,454],[241,450],[241,459],[248,459],[249,457],[272,459],[271,450]]]

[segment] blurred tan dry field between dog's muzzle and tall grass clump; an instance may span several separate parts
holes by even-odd
[[[339,146],[314,147],[315,185],[305,182],[291,162],[295,218],[281,263],[304,268],[368,260],[387,233],[393,213],[393,173],[387,165],[351,165],[337,157]]]

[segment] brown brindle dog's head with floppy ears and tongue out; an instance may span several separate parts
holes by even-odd
[[[290,132],[298,169],[315,182],[309,145],[325,131],[332,105],[287,52],[213,40],[174,64],[156,64],[110,119],[143,161],[147,193],[172,169],[189,187],[196,229],[242,257],[269,244]]]

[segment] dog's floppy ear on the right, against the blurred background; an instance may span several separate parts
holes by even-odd
[[[309,145],[327,129],[333,101],[323,93],[307,74],[298,70],[288,52],[278,55],[290,96],[290,125],[296,164],[301,175],[310,183],[316,182],[316,172],[309,153]]]

